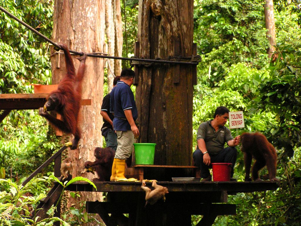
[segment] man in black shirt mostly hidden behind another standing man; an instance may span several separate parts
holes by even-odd
[[[116,76],[113,81],[113,87],[117,84],[117,81],[120,80],[120,76]],[[109,147],[116,151],[117,149],[117,135],[113,130],[113,118],[114,116],[110,113],[110,94],[107,94],[101,105],[100,114],[104,120],[104,124],[101,127],[101,135],[106,141],[106,147]]]

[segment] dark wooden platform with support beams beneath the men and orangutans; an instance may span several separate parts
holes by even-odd
[[[253,182],[169,182],[158,181],[167,187],[166,201],[145,205],[141,182],[95,182],[97,192],[107,192],[106,202],[86,202],[88,213],[98,213],[107,226],[191,225],[191,215],[203,215],[197,224],[212,225],[218,215],[235,215],[236,205],[228,204],[228,195],[254,191],[276,190],[278,181]],[[151,187],[151,182],[146,183]],[[86,182],[69,185],[70,191],[96,191]],[[129,218],[123,213],[128,213]]]

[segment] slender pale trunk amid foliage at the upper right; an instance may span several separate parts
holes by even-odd
[[[274,4],[273,0],[265,0],[265,28],[266,36],[270,42],[270,47],[268,48],[268,56],[271,57],[275,51],[276,45],[276,31],[275,31],[275,18],[274,18]]]

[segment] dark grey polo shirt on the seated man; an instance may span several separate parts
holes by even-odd
[[[233,137],[231,131],[225,126],[215,131],[211,125],[211,121],[212,119],[200,124],[197,130],[197,140],[203,139],[209,154],[216,155],[224,149],[225,143],[229,140],[233,140]]]

